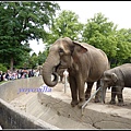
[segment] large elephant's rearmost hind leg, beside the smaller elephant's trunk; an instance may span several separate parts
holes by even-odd
[[[96,83],[96,91],[100,87],[100,80],[97,81]],[[95,103],[102,102],[102,90],[99,90],[96,95],[95,95]]]

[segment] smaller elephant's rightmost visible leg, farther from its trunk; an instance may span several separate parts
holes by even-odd
[[[123,96],[122,96],[122,87],[116,87],[117,97],[118,97],[118,106],[124,106],[123,104]]]

